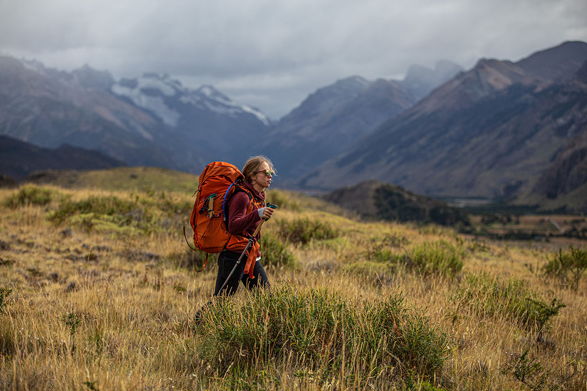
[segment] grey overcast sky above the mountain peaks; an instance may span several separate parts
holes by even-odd
[[[587,41],[585,0],[0,0],[0,53],[168,73],[279,118],[319,87],[410,64],[519,60]]]

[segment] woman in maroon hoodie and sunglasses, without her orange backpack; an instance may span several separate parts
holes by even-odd
[[[242,282],[248,290],[255,287],[269,288],[265,269],[261,265],[261,251],[258,240],[261,231],[255,237],[254,246],[245,254],[224,288],[222,285],[228,278],[232,268],[242,251],[247,246],[249,237],[263,220],[269,219],[274,209],[265,206],[265,189],[271,186],[275,169],[269,158],[255,156],[249,158],[242,168],[243,181],[227,203],[227,229],[232,234],[224,250],[218,255],[218,276],[214,297],[218,295],[232,296]]]

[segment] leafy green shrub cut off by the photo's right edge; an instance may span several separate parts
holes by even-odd
[[[561,284],[568,285],[575,290],[579,289],[579,281],[583,271],[587,269],[587,250],[575,249],[572,246],[568,250],[558,250],[551,257],[547,257],[548,263],[544,266],[545,276],[556,277]]]

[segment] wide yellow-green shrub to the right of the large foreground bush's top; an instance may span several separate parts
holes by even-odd
[[[556,299],[547,304],[524,280],[487,273],[467,274],[451,300],[481,317],[505,317],[529,329],[542,329],[553,311],[564,307]]]

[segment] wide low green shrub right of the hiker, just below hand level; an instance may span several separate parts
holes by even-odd
[[[306,244],[311,240],[334,239],[339,230],[319,220],[305,219],[279,220],[279,235],[291,243]]]

